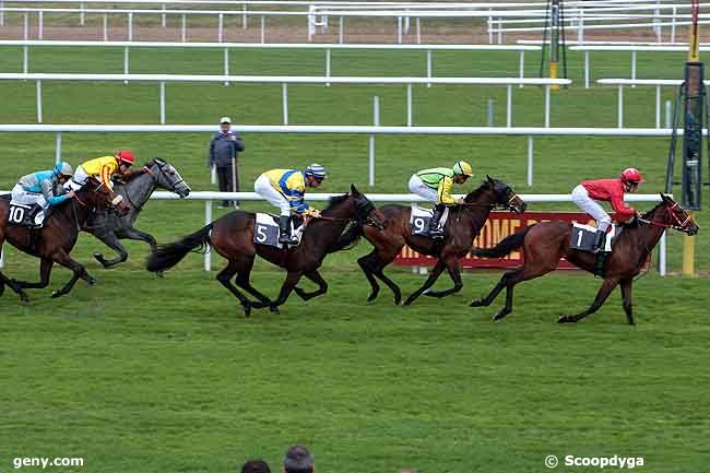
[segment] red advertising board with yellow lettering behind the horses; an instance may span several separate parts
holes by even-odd
[[[561,220],[566,222],[578,222],[595,226],[594,218],[584,212],[525,212],[521,215],[512,212],[490,212],[486,225],[481,235],[473,241],[475,247],[492,247],[498,241],[512,235],[516,232],[537,222]],[[394,264],[426,267],[434,265],[436,258],[419,255],[410,247],[404,247],[402,252],[394,259]],[[505,258],[477,258],[466,255],[461,259],[463,268],[516,268],[522,264],[522,251],[513,251]],[[557,269],[576,269],[571,263],[560,260]]]

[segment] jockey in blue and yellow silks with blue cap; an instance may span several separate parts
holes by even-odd
[[[279,243],[297,245],[291,234],[291,215],[309,215],[318,218],[320,211],[304,201],[307,187],[317,188],[326,179],[326,168],[311,164],[305,170],[271,169],[263,173],[253,184],[253,190],[267,201],[279,208]]]

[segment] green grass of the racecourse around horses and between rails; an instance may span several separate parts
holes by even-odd
[[[120,50],[76,51],[33,50],[31,70],[121,68]],[[639,76],[679,76],[682,58],[668,58],[640,55]],[[526,59],[526,74],[534,75],[534,58]],[[21,60],[20,49],[2,49],[0,70],[17,71]],[[141,50],[131,60],[135,72],[221,68],[216,51]],[[255,74],[318,74],[323,64],[322,55],[304,51],[247,51],[232,60],[235,73]],[[517,64],[516,55],[435,55],[438,75],[513,75]],[[333,57],[338,74],[421,74],[423,68],[421,54]],[[595,76],[628,75],[623,57],[610,56],[594,68]],[[579,81],[579,58],[570,61],[570,72]],[[155,86],[57,83],[45,84],[44,93],[47,122],[157,119]],[[370,123],[372,95],[382,99],[383,125],[405,119],[403,87],[292,86],[289,93],[293,123]],[[488,98],[496,99],[496,122],[505,122],[505,90],[416,87],[414,97],[417,125],[485,125]],[[517,88],[514,125],[540,126],[542,99],[537,88]],[[612,88],[573,87],[553,100],[553,126],[616,123]],[[653,125],[652,100],[652,90],[626,91],[628,126]],[[2,83],[0,104],[0,122],[33,122],[34,84]],[[240,123],[279,123],[280,90],[169,85],[167,110],[171,123],[213,122],[225,114]],[[315,161],[332,176],[324,191],[355,182],[364,190],[404,192],[413,170],[462,157],[478,176],[495,175],[524,193],[569,192],[581,179],[613,176],[628,164],[649,180],[642,191],[654,192],[662,189],[667,153],[667,140],[659,139],[535,139],[535,184],[528,188],[524,138],[381,137],[377,182],[368,189],[366,137],[244,138],[246,190],[263,169]],[[194,190],[206,190],[212,188],[208,141],[199,133],[64,133],[63,150],[72,164],[123,146],[141,158],[163,156]],[[0,134],[0,189],[49,166],[54,145],[51,134]],[[707,227],[707,211],[697,215]],[[201,202],[151,202],[138,226],[170,241],[202,224]],[[696,240],[698,268],[710,269],[703,229]],[[367,283],[355,260],[368,245],[360,244],[326,261],[327,296],[309,303],[294,298],[280,316],[255,311],[245,319],[214,272],[201,271],[200,256],[159,280],[142,270],[146,247],[127,246],[129,261],[104,271],[91,258],[100,244],[82,236],[74,257],[98,277],[97,286],[80,282],[59,301],[49,299],[49,289],[33,292],[29,305],[9,289],[0,299],[0,470],[10,470],[15,457],[84,457],[84,468],[75,470],[84,472],[234,471],[252,457],[273,468],[294,442],[312,449],[320,472],[393,472],[407,465],[423,473],[541,472],[547,454],[641,456],[646,472],[707,470],[705,279],[654,272],[641,279],[636,328],[625,324],[618,292],[600,312],[566,327],[556,318],[584,309],[600,283],[589,275],[553,274],[520,285],[516,311],[492,323],[488,316],[502,298],[488,309],[466,303],[485,295],[497,273],[466,274],[464,291],[442,301],[423,298],[399,308],[383,289],[376,303],[364,304]],[[37,279],[36,260],[7,246],[5,253],[7,274]],[[677,235],[670,238],[668,258],[678,271]],[[214,256],[213,265],[220,264]],[[388,271],[405,294],[423,282],[406,269]],[[51,287],[68,277],[57,269]],[[282,279],[268,264],[257,264],[253,282],[267,294],[275,295]],[[439,286],[449,284],[443,276]]]

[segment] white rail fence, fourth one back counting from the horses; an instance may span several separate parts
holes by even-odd
[[[330,44],[310,44],[310,43],[169,43],[169,42],[68,42],[68,40],[32,40],[32,39],[5,39],[0,40],[0,47],[15,47],[20,46],[23,49],[22,72],[29,72],[29,48],[31,47],[86,47],[107,48],[118,47],[123,48],[123,73],[130,73],[130,50],[131,48],[155,48],[155,49],[222,49],[223,50],[223,71],[225,75],[229,75],[229,52],[235,49],[305,49],[305,50],[324,50],[324,75],[332,74],[332,51],[342,50],[372,50],[375,52],[380,50],[407,50],[407,51],[425,51],[426,59],[424,66],[424,73],[427,78],[434,75],[434,52],[435,51],[511,51],[519,54],[519,76],[524,79],[525,75],[525,51],[540,51],[540,46],[528,45],[370,45],[370,44],[353,44],[353,45],[330,45]],[[474,68],[475,70],[475,68]],[[7,71],[5,71],[7,72]]]

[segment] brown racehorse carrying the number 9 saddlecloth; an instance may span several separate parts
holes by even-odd
[[[346,246],[359,236],[358,232],[362,232],[375,247],[372,251],[357,260],[371,286],[368,301],[375,300],[380,292],[380,285],[375,276],[379,277],[392,291],[394,304],[399,305],[402,300],[400,286],[384,275],[383,270],[402,251],[404,245],[419,253],[437,257],[436,265],[426,282],[406,299],[405,306],[412,304],[422,294],[440,298],[458,293],[463,287],[459,258],[464,257],[471,250],[471,244],[478,236],[490,211],[502,205],[510,211],[522,213],[526,208],[525,202],[513,192],[510,186],[501,180],[493,179],[490,176],[486,176],[486,180],[481,187],[471,191],[464,201],[465,203],[451,208],[443,241],[412,235],[412,208],[405,205],[384,205],[380,209],[380,212],[387,217],[387,228],[383,232],[377,232],[369,227],[353,227],[343,236],[340,245]],[[453,287],[440,292],[426,292],[445,269],[453,281]]]

